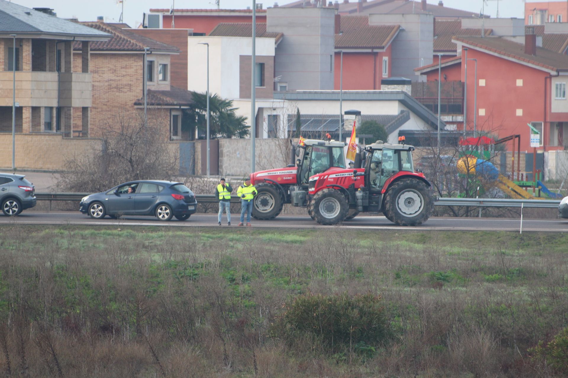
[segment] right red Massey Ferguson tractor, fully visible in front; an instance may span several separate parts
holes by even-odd
[[[415,173],[409,145],[377,141],[356,157],[356,169],[310,176],[308,214],[320,224],[337,224],[359,211],[385,214],[400,226],[417,226],[432,214],[432,186]],[[294,205],[296,204],[293,202]]]

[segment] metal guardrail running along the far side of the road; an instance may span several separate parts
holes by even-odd
[[[36,193],[37,201],[81,201],[81,198],[92,193]],[[214,194],[196,194],[195,199],[201,203],[214,203],[219,199]],[[231,196],[231,202],[239,202],[239,197]],[[479,207],[540,207],[556,208],[558,199],[506,199],[506,198],[445,198],[434,203],[436,206],[479,206]]]

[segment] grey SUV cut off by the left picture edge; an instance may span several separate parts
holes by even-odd
[[[35,206],[35,186],[24,177],[0,172],[0,207],[4,215],[18,215]]]

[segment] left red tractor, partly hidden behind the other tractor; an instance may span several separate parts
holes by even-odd
[[[306,206],[311,176],[345,170],[344,147],[343,142],[304,139],[303,145],[292,146],[291,164],[286,168],[252,173],[250,181],[258,190],[252,216],[274,219],[285,203]]]

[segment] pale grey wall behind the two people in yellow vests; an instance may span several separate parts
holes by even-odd
[[[287,139],[257,139],[255,170],[286,167],[289,163],[289,148]],[[250,139],[219,139],[219,174],[245,176],[249,173]]]

